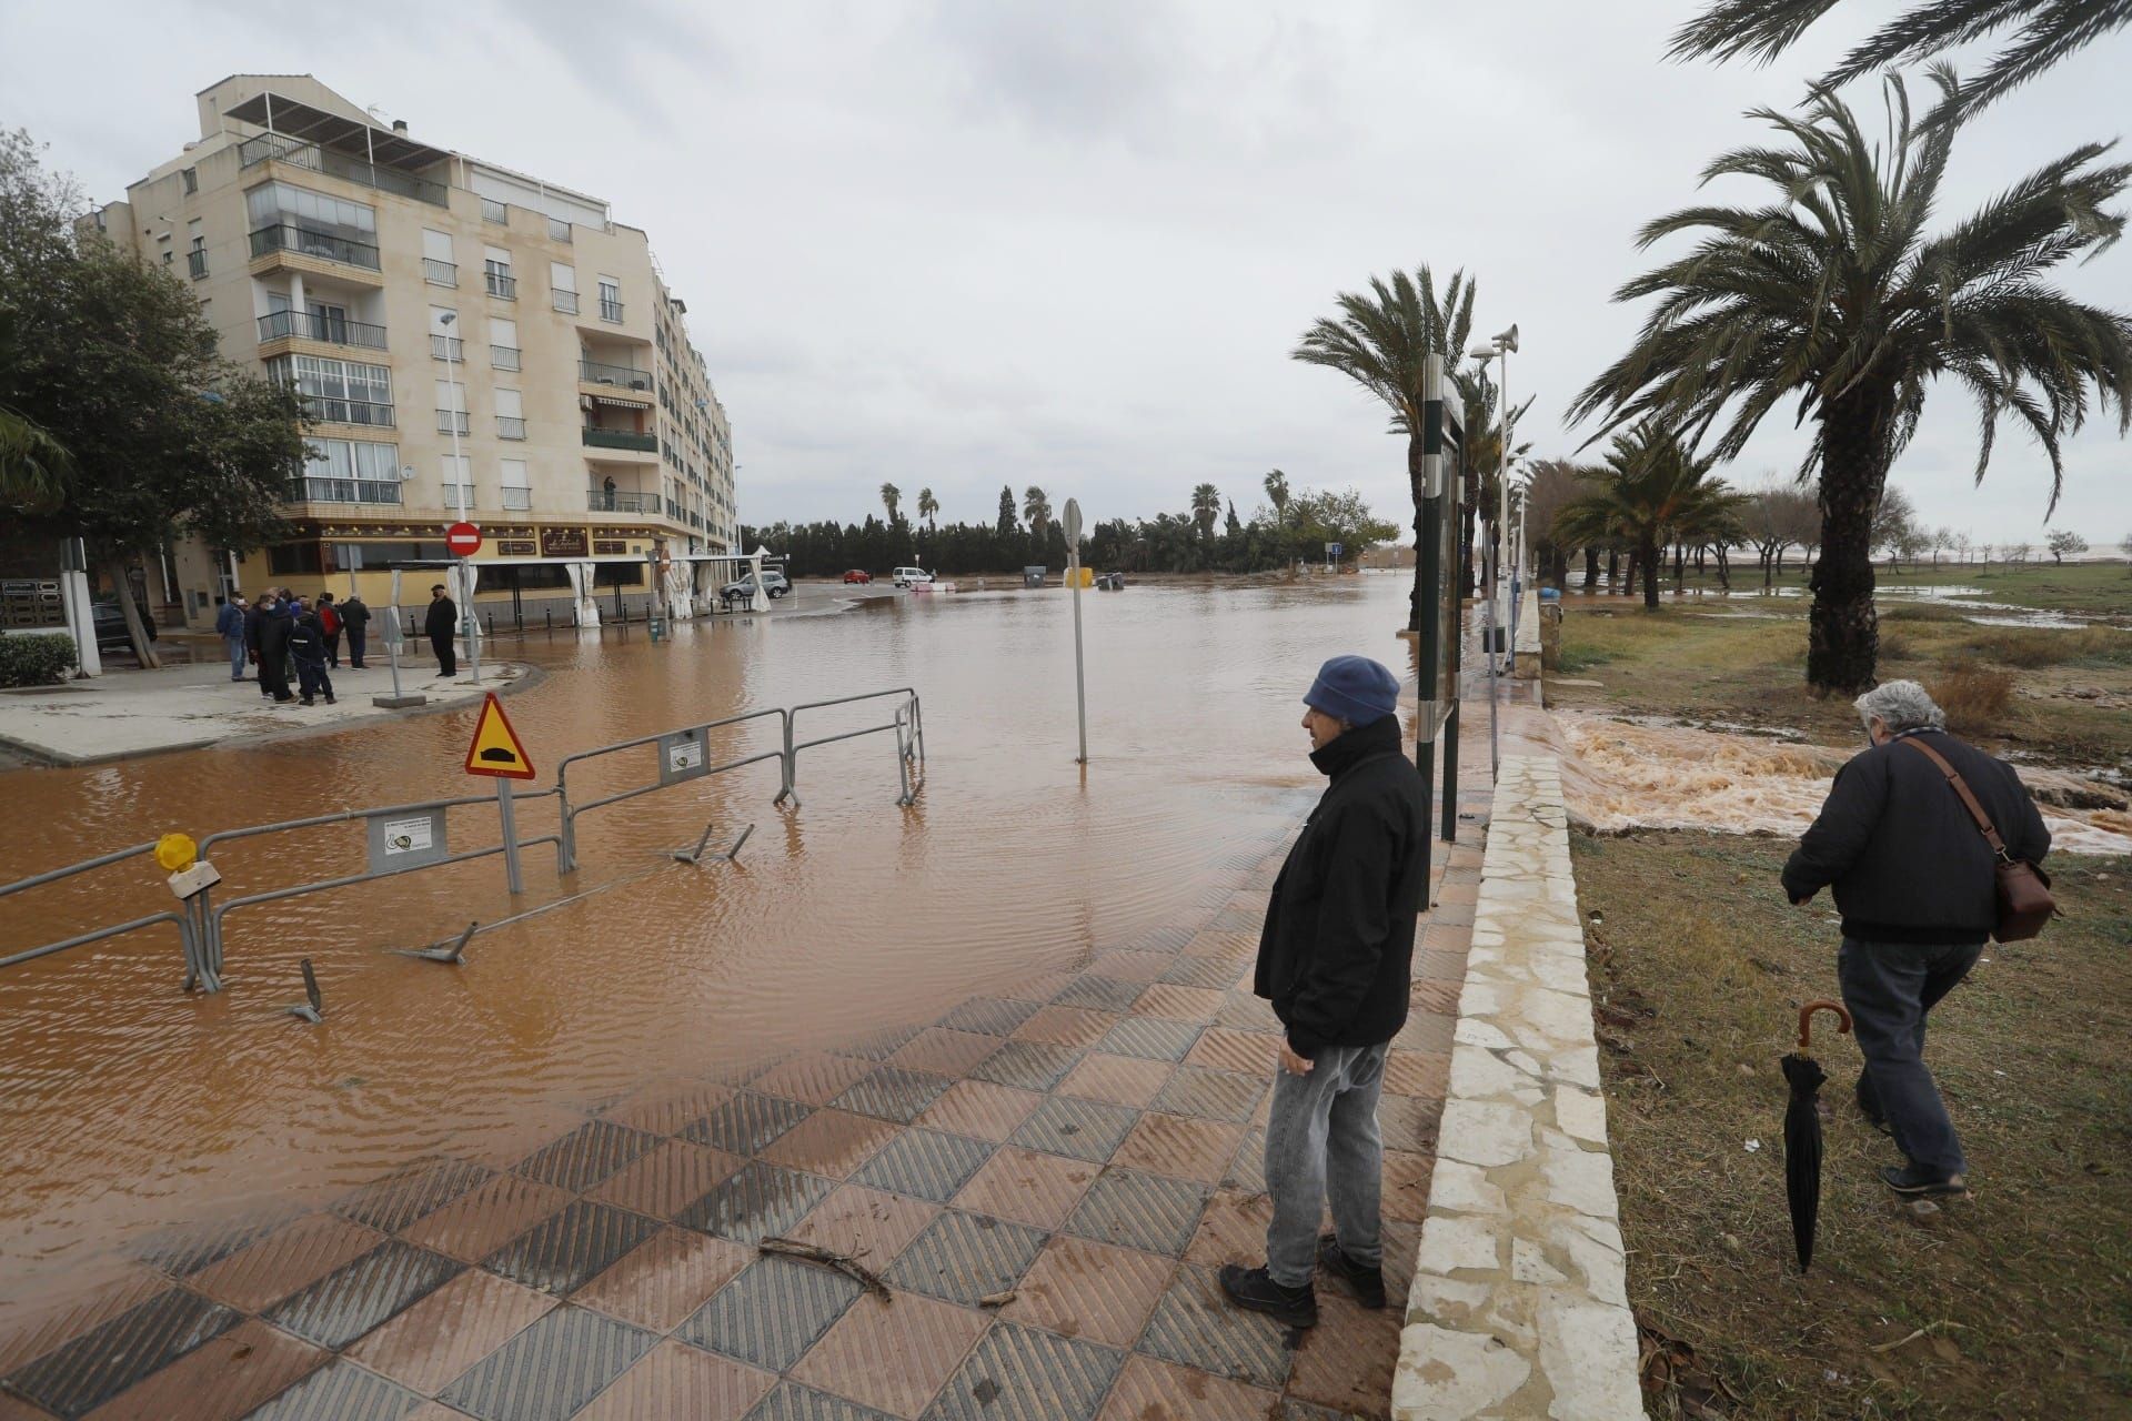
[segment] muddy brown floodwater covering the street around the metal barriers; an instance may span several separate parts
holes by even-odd
[[[895,805],[893,739],[804,752],[804,807],[763,763],[586,814],[559,884],[527,854],[522,905],[586,897],[473,940],[463,967],[397,957],[510,912],[484,859],[237,910],[226,991],[185,997],[168,927],[0,971],[0,1334],[96,1287],[145,1234],[311,1208],[450,1144],[514,1148],[648,1078],[932,1016],[949,997],[1085,965],[1207,912],[1292,831],[1320,784],[1296,720],[1324,656],[1392,663],[1405,577],[1330,586],[1136,586],[1085,594],[1089,756],[1075,765],[1062,592],[904,597],[874,607],[576,639],[499,639],[537,665],[507,699],[539,784],[576,750],[746,709],[915,686],[927,780]],[[804,735],[878,724],[821,712]],[[390,726],[0,778],[6,878],[139,844],[333,810],[478,793],[473,712]],[[774,746],[776,722],[712,754]],[[650,752],[586,790],[652,773]],[[623,773],[627,769],[627,773]],[[578,771],[571,771],[578,797]],[[452,812],[454,848],[495,812]],[[742,867],[667,850],[706,822],[755,835]],[[550,833],[552,801],[520,810]],[[356,873],[362,829],[217,852],[241,891]],[[168,905],[143,861],[0,901],[0,952]],[[326,1023],[281,1008],[318,965]]]

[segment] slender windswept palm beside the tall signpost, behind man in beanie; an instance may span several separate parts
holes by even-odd
[[[1369,294],[1339,292],[1339,317],[1320,317],[1290,358],[1322,364],[1356,381],[1392,411],[1392,432],[1407,437],[1407,486],[1414,492],[1414,539],[1422,537],[1422,377],[1428,356],[1458,364],[1473,332],[1473,281],[1452,273],[1437,300],[1435,277],[1418,266],[1409,277],[1394,271],[1390,281],[1369,279]],[[1283,479],[1286,484],[1286,479]],[[1271,492],[1271,490],[1269,490]],[[1414,594],[1407,628],[1422,626],[1422,558],[1414,560]]]

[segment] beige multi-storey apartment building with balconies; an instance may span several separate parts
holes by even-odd
[[[222,352],[294,386],[316,424],[294,535],[171,550],[171,620],[211,622],[230,579],[382,607],[384,569],[443,560],[458,520],[482,528],[478,603],[499,624],[529,605],[597,620],[652,579],[687,616],[733,575],[731,426],[642,230],[309,75],[232,75],[198,111],[200,138],[96,222],[190,279]]]

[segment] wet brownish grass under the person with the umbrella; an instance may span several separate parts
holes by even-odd
[[[1970,1202],[1929,1216],[1893,1204],[1874,1172],[1895,1148],[1851,1108],[1857,1050],[1816,1027],[1827,1159],[1799,1276],[1776,1059],[1797,1006],[1836,995],[1827,899],[1782,901],[1778,839],[1571,850],[1584,914],[1599,914],[1586,937],[1629,1297],[1667,1378],[1652,1415],[2132,1415],[2132,859],[2053,861],[2068,916],[1985,948],[1934,1012],[1927,1059]]]

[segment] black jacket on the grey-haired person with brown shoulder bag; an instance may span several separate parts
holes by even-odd
[[[2006,850],[2042,863],[2051,831],[2013,767],[1944,731],[1917,735],[1961,773]],[[1784,897],[1834,884],[1844,937],[1859,942],[1983,942],[1998,922],[1991,846],[1940,767],[1902,739],[1836,771],[1821,818],[1784,863]]]

